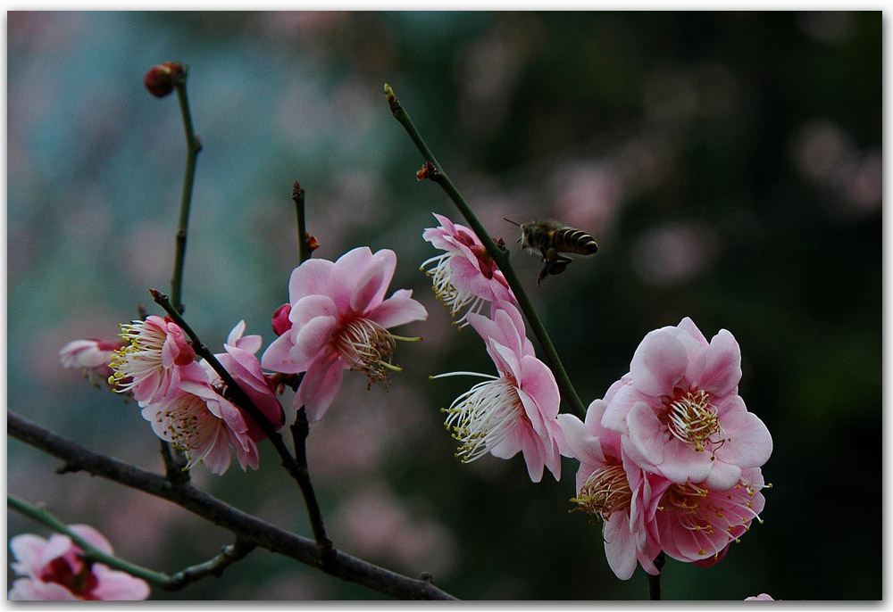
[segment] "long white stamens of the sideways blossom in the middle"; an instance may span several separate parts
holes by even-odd
[[[447,413],[444,425],[461,442],[455,456],[463,463],[487,453],[526,418],[517,387],[506,378],[474,385],[441,411]]]

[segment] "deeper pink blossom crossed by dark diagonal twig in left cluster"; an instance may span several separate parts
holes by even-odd
[[[226,343],[223,344],[226,352],[215,354],[214,357],[221,362],[223,368],[226,368],[226,371],[246,393],[255,408],[263,412],[263,416],[270,421],[273,429],[279,429],[285,424],[285,413],[282,411],[279,398],[276,397],[276,393],[270,388],[266,377],[263,376],[260,361],[255,357],[255,352],[261,348],[263,338],[260,335],[243,337],[244,333],[245,321],[239,321],[236,327],[230,331]],[[206,361],[203,361],[202,364],[205,366],[204,369],[211,384],[222,388],[223,383],[220,376]],[[248,426],[248,435],[252,440],[259,442],[267,437],[251,415],[238,406],[236,408],[242,413],[242,418],[245,419]]]

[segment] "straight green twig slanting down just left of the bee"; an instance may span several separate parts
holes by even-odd
[[[487,229],[484,228],[480,223],[480,220],[475,216],[472,207],[468,205],[453,181],[447,176],[446,170],[440,165],[437,158],[434,157],[434,153],[431,153],[430,148],[421,137],[421,134],[419,133],[418,128],[415,127],[409,113],[406,112],[403,104],[396,99],[394,90],[387,83],[385,84],[385,95],[388,97],[388,105],[390,106],[394,118],[400,122],[400,125],[406,130],[409,137],[413,139],[413,143],[416,148],[418,148],[419,153],[421,153],[421,156],[425,161],[433,166],[433,169],[429,168],[427,178],[433,180],[447,193],[450,200],[455,203],[456,208],[459,209],[459,212],[461,212],[465,220],[468,221],[468,224],[472,227],[474,233],[480,238],[480,242],[484,245],[484,248],[487,249],[488,255],[493,258],[493,261],[496,261],[497,266],[502,270],[502,273],[505,275],[505,280],[512,288],[512,293],[518,301],[518,306],[521,308],[524,316],[527,318],[527,322],[530,324],[530,329],[533,331],[533,334],[537,336],[539,345],[545,353],[546,362],[549,368],[551,368],[552,372],[555,374],[555,382],[558,384],[558,389],[561,392],[564,401],[570,404],[573,411],[576,412],[580,418],[583,418],[586,415],[586,406],[580,401],[580,396],[571,384],[571,379],[567,375],[567,370],[564,369],[561,358],[558,357],[558,351],[555,351],[555,344],[553,344],[552,339],[549,338],[546,327],[543,326],[542,321],[537,315],[537,311],[533,308],[533,303],[530,302],[530,298],[524,291],[521,280],[518,278],[518,275],[515,274],[512,265],[509,263],[508,251],[500,248],[493,241],[493,238],[490,237]]]

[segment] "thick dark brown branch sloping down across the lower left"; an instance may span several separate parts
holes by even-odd
[[[173,485],[164,476],[131,466],[120,459],[113,459],[90,451],[76,442],[32,423],[13,411],[7,412],[6,426],[7,433],[13,437],[54,457],[63,459],[70,471],[83,470],[171,501],[180,508],[187,509],[234,533],[243,542],[294,558],[311,567],[322,568],[320,552],[313,540],[289,533],[260,518],[249,515],[208,495],[192,484]],[[340,550],[333,550],[332,561],[325,571],[343,580],[363,584],[375,591],[400,599],[455,599],[429,581],[396,574],[396,572],[374,566]]]

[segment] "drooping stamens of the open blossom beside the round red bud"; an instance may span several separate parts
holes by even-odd
[[[355,318],[341,329],[335,339],[335,347],[351,369],[360,370],[369,378],[369,385],[379,380],[388,385],[388,374],[402,369],[390,362],[397,340],[413,342],[421,338],[393,335],[375,321]]]

